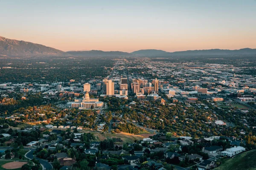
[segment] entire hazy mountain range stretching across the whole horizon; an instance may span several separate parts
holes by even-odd
[[[2,56],[81,56],[81,57],[96,57],[96,56],[138,56],[138,57],[174,57],[174,56],[227,56],[227,55],[256,55],[256,49],[242,48],[239,50],[188,50],[167,52],[163,50],[139,50],[131,53],[122,51],[61,51],[45,45],[35,44],[32,42],[11,40],[5,37],[0,37],[0,55]]]

